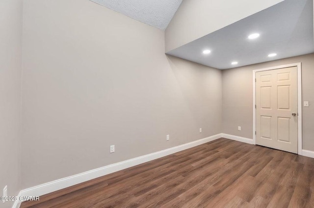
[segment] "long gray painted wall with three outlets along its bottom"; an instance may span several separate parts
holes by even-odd
[[[88,0],[25,0],[23,38],[22,188],[222,131],[221,71],[166,56],[162,30]]]

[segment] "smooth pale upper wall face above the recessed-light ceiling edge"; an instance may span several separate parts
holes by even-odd
[[[165,52],[282,1],[284,0],[183,0],[165,31]]]

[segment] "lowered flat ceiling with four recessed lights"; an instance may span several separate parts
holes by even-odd
[[[249,40],[252,33],[260,37]],[[206,49],[211,53],[203,54]],[[229,69],[312,52],[313,0],[285,0],[167,54]],[[270,53],[277,56],[269,58]],[[233,61],[238,64],[231,65]]]

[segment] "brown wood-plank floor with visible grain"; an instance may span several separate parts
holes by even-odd
[[[37,204],[36,204],[37,203]],[[314,159],[225,138],[21,208],[314,208]]]

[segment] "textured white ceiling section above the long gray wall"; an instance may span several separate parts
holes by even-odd
[[[128,17],[165,30],[182,0],[91,0]]]

